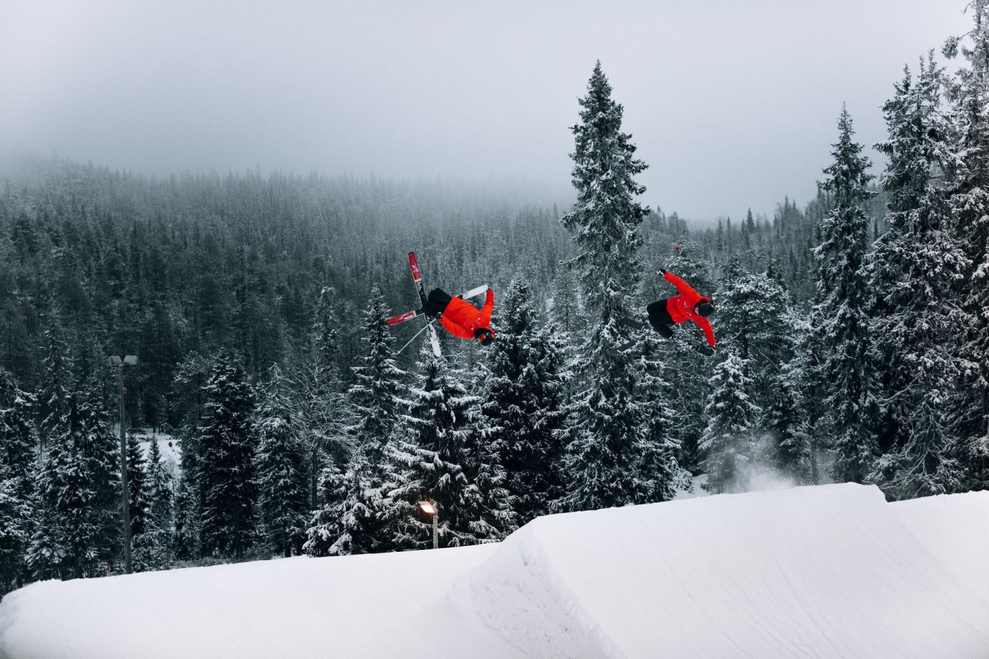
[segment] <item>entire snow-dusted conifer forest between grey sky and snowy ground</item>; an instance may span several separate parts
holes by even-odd
[[[843,109],[817,197],[693,229],[642,206],[647,166],[598,64],[573,126],[576,202],[256,174],[148,180],[35,161],[0,193],[0,591],[119,572],[108,354],[128,371],[135,569],[494,541],[551,512],[762,478],[893,499],[989,485],[989,18],[906,70],[874,181]],[[875,184],[878,183],[878,187]],[[715,357],[687,323],[708,293]],[[429,285],[497,293],[490,349],[418,329]]]

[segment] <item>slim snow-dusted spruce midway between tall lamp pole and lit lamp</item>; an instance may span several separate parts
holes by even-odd
[[[257,474],[264,534],[272,550],[288,557],[302,549],[309,510],[306,449],[286,395],[278,365],[269,381],[257,418]]]

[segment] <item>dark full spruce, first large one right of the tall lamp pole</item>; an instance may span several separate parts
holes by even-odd
[[[204,387],[197,489],[199,528],[206,555],[243,555],[257,521],[254,400],[244,371],[222,353]]]

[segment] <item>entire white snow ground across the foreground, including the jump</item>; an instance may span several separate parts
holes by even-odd
[[[989,657],[989,492],[854,484],[536,520],[499,544],[33,584],[0,657]]]

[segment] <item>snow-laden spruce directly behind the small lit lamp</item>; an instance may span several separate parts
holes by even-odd
[[[439,515],[443,546],[476,544],[472,523],[485,516],[477,486],[468,480],[465,464],[469,434],[468,411],[476,403],[446,359],[432,354],[423,342],[414,382],[408,387],[408,412],[400,418],[402,432],[393,450],[401,473],[389,496],[390,528],[397,549],[431,545],[431,522],[417,502],[432,501]]]

